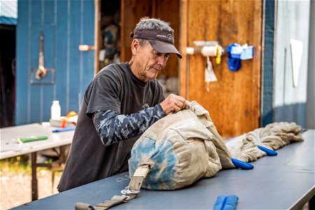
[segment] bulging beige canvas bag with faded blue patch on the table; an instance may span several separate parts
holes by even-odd
[[[134,144],[129,160],[130,177],[141,162],[154,162],[142,187],[175,190],[198,179],[235,167],[209,112],[197,102],[151,125]]]

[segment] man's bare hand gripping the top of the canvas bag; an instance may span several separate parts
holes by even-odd
[[[169,96],[160,103],[166,115],[169,113],[176,113],[182,109],[188,109],[188,101],[176,94],[169,94]]]

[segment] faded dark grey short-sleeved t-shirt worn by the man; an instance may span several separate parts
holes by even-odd
[[[130,151],[140,136],[104,146],[94,127],[96,111],[136,113],[164,99],[158,80],[139,80],[129,64],[111,64],[94,77],[85,91],[69,158],[58,190],[62,192],[92,181],[113,176],[128,169]]]

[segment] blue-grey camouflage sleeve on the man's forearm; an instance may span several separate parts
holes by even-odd
[[[105,146],[143,134],[148,127],[165,117],[160,104],[145,110],[121,115],[117,111],[97,111],[93,114],[94,127]]]

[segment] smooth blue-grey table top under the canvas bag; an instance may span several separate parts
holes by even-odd
[[[304,141],[265,156],[254,169],[225,169],[209,179],[173,191],[141,190],[125,204],[111,209],[212,209],[219,195],[237,195],[237,209],[295,209],[315,195],[315,130],[302,134]],[[111,176],[15,209],[74,209],[76,202],[98,204],[128,186],[127,173]]]

